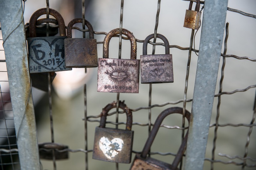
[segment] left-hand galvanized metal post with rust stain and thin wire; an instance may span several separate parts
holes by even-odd
[[[20,166],[22,170],[38,170],[38,142],[21,2],[1,1],[0,22]]]

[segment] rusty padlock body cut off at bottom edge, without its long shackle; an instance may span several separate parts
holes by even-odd
[[[130,168],[131,170],[178,170],[172,169],[172,165],[156,160],[151,157],[142,158],[140,154],[136,154],[136,157],[133,161],[133,165]]]

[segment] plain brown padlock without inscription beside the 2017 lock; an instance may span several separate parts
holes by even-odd
[[[94,39],[93,27],[85,20],[89,29],[88,38],[72,38],[72,26],[75,23],[82,23],[81,18],[73,19],[67,28],[67,37],[64,40],[66,67],[98,67],[97,41]]]

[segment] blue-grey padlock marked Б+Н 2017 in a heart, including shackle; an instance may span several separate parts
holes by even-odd
[[[66,68],[64,58],[64,39],[66,37],[65,22],[62,16],[53,9],[49,14],[54,16],[59,24],[59,35],[56,37],[36,37],[35,25],[39,16],[46,14],[46,8],[35,11],[29,20],[28,52],[29,72],[57,72],[72,70]]]

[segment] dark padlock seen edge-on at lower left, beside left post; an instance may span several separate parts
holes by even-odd
[[[69,147],[58,143],[40,143],[38,144],[40,159],[53,160],[53,151],[55,160],[69,158]]]

